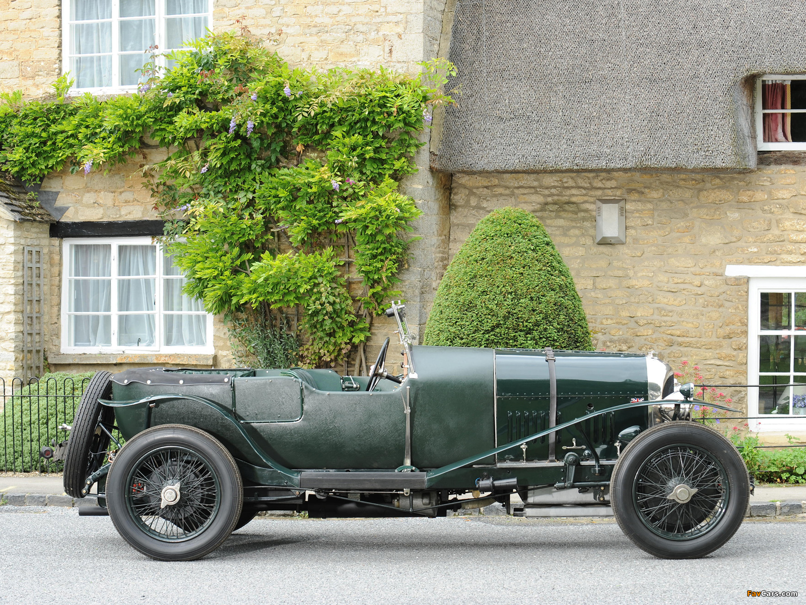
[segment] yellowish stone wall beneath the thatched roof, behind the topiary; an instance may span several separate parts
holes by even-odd
[[[750,173],[456,174],[451,257],[495,208],[542,221],[571,269],[596,348],[654,350],[744,383],[747,280],[725,265],[806,263],[806,167]],[[597,198],[625,198],[627,243],[594,244]]]

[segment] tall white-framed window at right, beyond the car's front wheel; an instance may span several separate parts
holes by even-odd
[[[764,269],[773,269],[764,267]],[[783,268],[780,268],[783,269]],[[806,277],[750,277],[747,376],[756,431],[806,427]],[[769,420],[767,420],[767,417]]]

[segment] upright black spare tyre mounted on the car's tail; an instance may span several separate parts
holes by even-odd
[[[114,410],[102,406],[98,399],[108,399],[112,394],[112,373],[96,372],[89,379],[81,403],[78,405],[73,428],[67,441],[64,457],[64,491],[73,498],[84,498],[87,478],[106,463],[109,436],[98,428],[98,423],[112,425]]]

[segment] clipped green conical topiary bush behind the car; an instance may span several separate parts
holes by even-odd
[[[592,350],[574,278],[538,219],[481,219],[442,277],[423,344]]]

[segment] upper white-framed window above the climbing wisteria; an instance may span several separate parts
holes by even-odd
[[[212,27],[212,0],[62,0],[63,72],[73,90],[136,90],[151,58],[184,48]],[[164,66],[164,56],[158,63]]]

